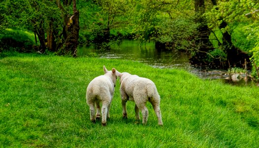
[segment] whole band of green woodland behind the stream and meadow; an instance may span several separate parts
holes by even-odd
[[[193,65],[259,75],[257,0],[1,0],[0,20],[0,52],[77,56],[78,45],[136,39],[187,51]]]

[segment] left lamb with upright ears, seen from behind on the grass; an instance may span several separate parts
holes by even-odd
[[[86,90],[86,100],[90,108],[90,118],[93,123],[96,119],[100,119],[100,103],[101,108],[101,123],[106,126],[106,118],[110,117],[110,105],[114,94],[114,87],[116,86],[116,70],[107,71],[103,66],[104,75],[97,76],[88,85]],[[95,117],[95,106],[97,108]]]

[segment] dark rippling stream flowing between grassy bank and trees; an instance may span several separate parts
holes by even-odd
[[[225,81],[229,76],[227,71],[206,71],[194,68],[189,63],[190,54],[177,51],[161,51],[155,48],[154,42],[140,46],[138,41],[124,40],[119,45],[112,45],[109,51],[96,49],[94,46],[79,47],[78,55],[96,55],[100,58],[133,60],[155,68],[184,69],[200,78],[223,79]]]

